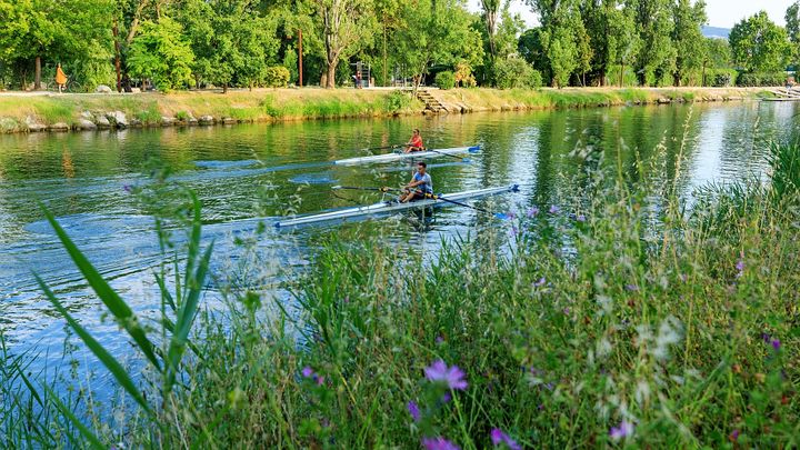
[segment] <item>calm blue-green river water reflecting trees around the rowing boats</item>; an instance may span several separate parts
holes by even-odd
[[[403,142],[412,128],[420,128],[432,148],[483,144],[470,162],[429,161],[437,192],[519,183],[521,192],[477,204],[521,210],[547,207],[566,180],[583,170],[586,161],[569,156],[576,149],[603,150],[607,160],[616,160],[619,150],[631,174],[637,154],[642,160],[660,154],[667,163],[658,176],[670,180],[683,146],[686,166],[677,182],[684,194],[710,181],[760,176],[768,142],[800,134],[798,113],[797,103],[743,102],[0,136],[0,330],[12,350],[37,346],[50,350],[42,363],[59,358],[63,320],[41,294],[31,274],[36,271],[103,343],[124,351],[126,339],[100,319],[99,301],[38,202],[57,216],[123,298],[147,314],[158,309],[158,241],[153,219],[127,187],[148,183],[154,163],[169,167],[174,181],[200,197],[204,243],[213,239],[217,246],[216,270],[238,267],[240,273],[250,264],[258,267],[259,282],[269,283],[279,268],[306,266],[320,233],[340,226],[270,231],[260,238],[262,254],[256,257],[241,254],[233,238],[252,232],[260,220],[276,220],[288,199],[300,200],[299,212],[377,201],[330,188],[406,182],[408,164],[334,167],[328,161],[362,156],[360,148]],[[474,236],[498,226],[464,208],[439,210],[434,226],[423,231],[397,218],[374,223],[390,230],[389,239],[409,242],[409,251],[436,250],[442,237]],[[210,283],[209,301],[214,289]]]

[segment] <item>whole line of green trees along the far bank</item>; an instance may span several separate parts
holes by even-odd
[[[41,73],[51,84],[57,63],[86,89],[113,84],[118,66],[134,83],[227,91],[271,86],[283,69],[290,82],[334,88],[357,62],[382,86],[450,71],[466,86],[560,88],[692,86],[709,70],[800,61],[800,1],[786,29],[760,12],[730,41],[702,36],[704,0],[522,0],[531,29],[510,1],[0,0],[0,88],[39,88]],[[537,82],[508,80],[521,61],[521,79]]]

